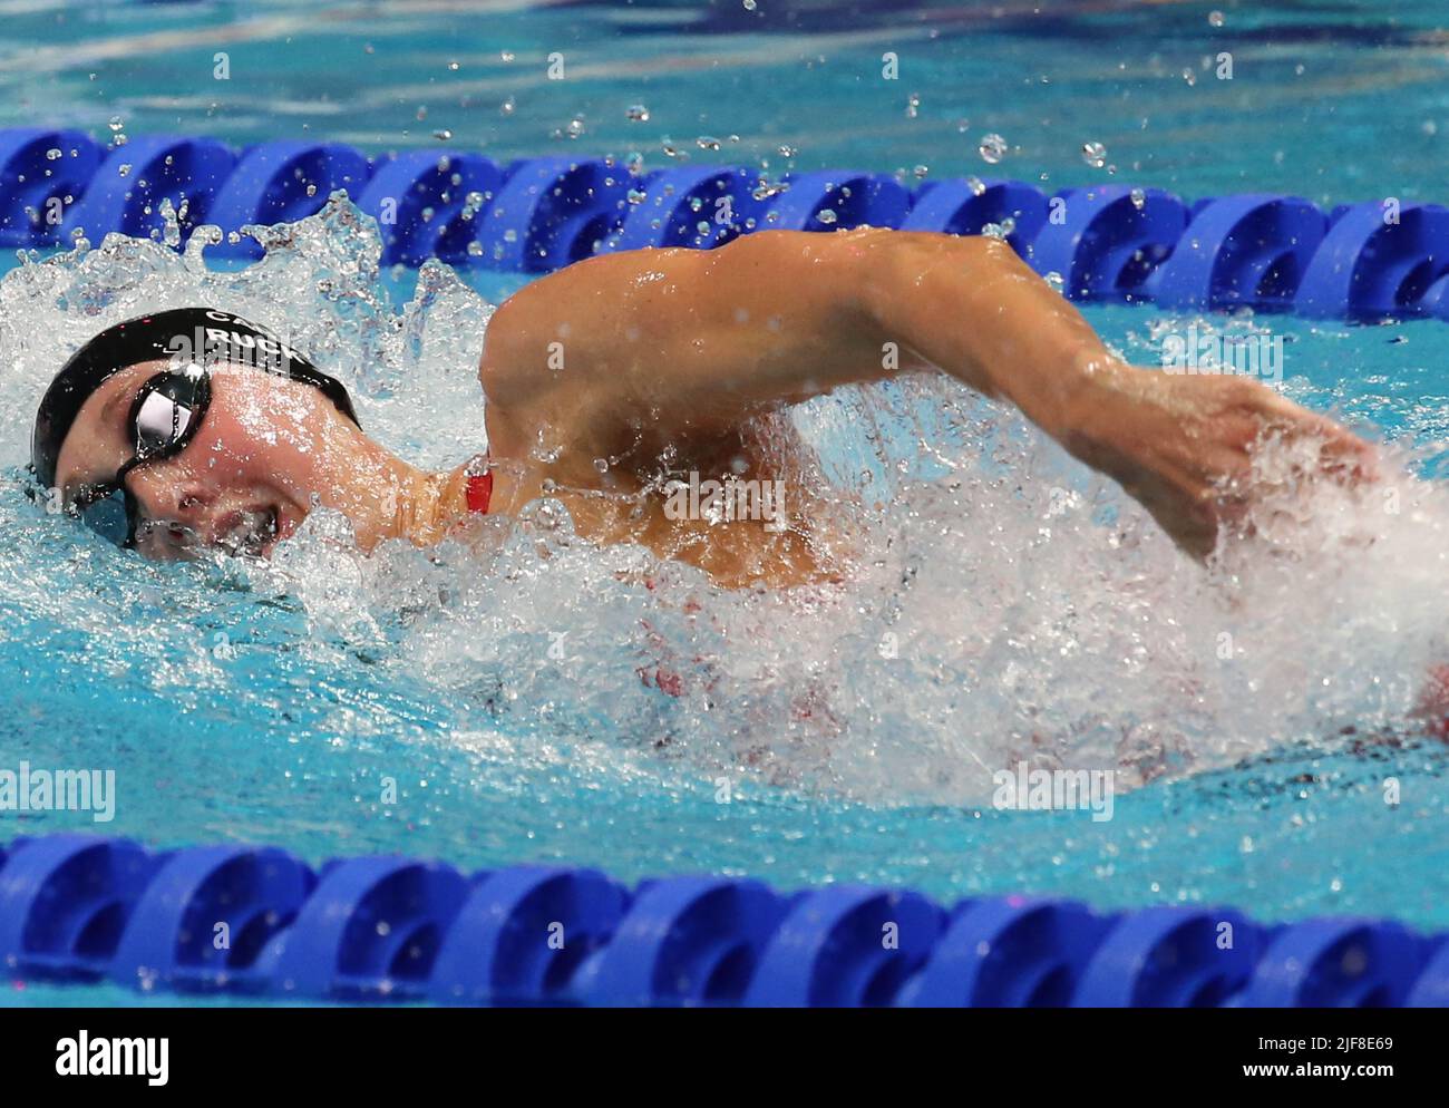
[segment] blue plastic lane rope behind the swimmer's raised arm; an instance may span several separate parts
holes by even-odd
[[[1004,180],[930,181],[826,169],[764,182],[742,167],[633,175],[623,164],[467,151],[368,158],[327,142],[241,152],[207,138],[146,135],[106,151],[77,130],[0,130],[0,246],[65,245],[84,230],[159,238],[162,200],[188,232],[316,213],[338,188],[378,220],[383,262],[548,272],[640,246],[711,248],[758,229],[990,230],[1082,301],[1174,310],[1293,311],[1311,319],[1449,320],[1449,209],[1392,198],[1323,211],[1250,193],[1188,204],[1159,188],[1093,185],[1052,196]],[[256,256],[242,239],[223,253]]]

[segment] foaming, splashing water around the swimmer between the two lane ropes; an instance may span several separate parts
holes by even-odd
[[[1301,490],[1291,452],[1265,450],[1256,536],[1207,571],[1011,413],[930,378],[796,410],[859,503],[835,524],[846,582],[787,594],[594,547],[549,505],[367,558],[319,511],[270,565],[151,565],[48,516],[20,469],[45,384],[162,307],[283,332],[414,462],[483,448],[493,306],[468,281],[429,264],[397,306],[375,227],[341,200],[261,238],[245,269],[110,238],[0,281],[0,763],[114,766],[100,830],[1443,923],[1433,882],[1387,889],[1375,860],[1440,872],[1446,799],[1414,717],[1449,660],[1449,501],[1420,477],[1442,374],[1350,374],[1403,356],[1388,330],[1275,323],[1287,391],[1397,445],[1358,491]],[[1262,326],[1093,319],[1139,362],[1164,329]],[[1403,333],[1429,353],[1437,329]],[[993,773],[1019,762],[1137,791],[1108,823],[995,811]],[[16,821],[59,826],[88,824]]]

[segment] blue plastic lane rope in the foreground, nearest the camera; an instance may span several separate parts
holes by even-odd
[[[49,834],[0,850],[0,968],[259,999],[590,1007],[1443,1007],[1449,936],[982,897]]]

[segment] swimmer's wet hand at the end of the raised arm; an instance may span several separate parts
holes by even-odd
[[[1327,416],[1246,377],[1175,375],[1114,364],[1098,372],[1056,437],[1116,479],[1172,540],[1207,558],[1219,532],[1236,532],[1253,498],[1252,456],[1266,436],[1317,446],[1311,472],[1372,477],[1372,448]]]

